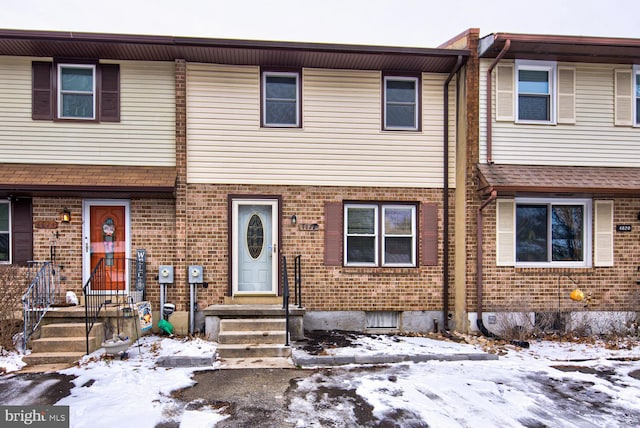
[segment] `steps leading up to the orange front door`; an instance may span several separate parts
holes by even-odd
[[[87,350],[85,323],[68,322],[44,324],[40,338],[31,340],[31,353],[22,357],[29,366],[42,364],[73,364],[80,360]],[[89,352],[100,348],[102,338],[95,332],[102,332],[101,323],[96,323],[89,336]]]

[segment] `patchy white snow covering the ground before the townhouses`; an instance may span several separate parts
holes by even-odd
[[[201,367],[156,365],[161,356],[210,356],[215,343],[158,336],[140,343],[131,346],[127,360],[104,358],[100,350],[61,372],[76,377],[71,395],[57,403],[70,406],[73,427],[213,427],[227,417],[206,405],[185,408],[171,397],[171,391],[192,385],[192,374]],[[355,345],[329,352],[451,354],[486,348],[482,343],[400,336],[362,336]],[[617,346],[533,341],[529,349],[500,349],[497,361],[315,370],[297,381],[288,422],[299,427],[358,426],[368,413],[378,421],[416,427],[640,426],[640,381],[630,376],[640,370],[638,340]],[[19,369],[18,359],[17,354],[0,357],[0,371]]]

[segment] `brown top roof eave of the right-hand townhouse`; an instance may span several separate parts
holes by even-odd
[[[504,58],[546,61],[636,64],[640,61],[640,39],[494,33],[480,40],[481,58],[498,56],[507,40]]]

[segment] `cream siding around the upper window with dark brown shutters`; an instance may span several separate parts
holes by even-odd
[[[121,121],[34,121],[31,62],[0,58],[0,158],[13,163],[175,165],[175,65],[120,64]]]

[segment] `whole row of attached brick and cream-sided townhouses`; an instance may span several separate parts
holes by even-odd
[[[205,315],[281,304],[294,260],[305,329],[620,328],[638,58],[477,29],[435,49],[3,30],[0,263],[54,260],[80,294],[125,260],[118,290],[214,339]]]

